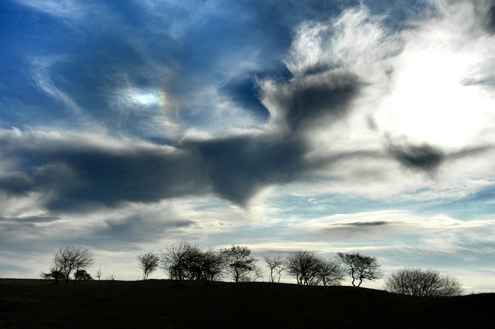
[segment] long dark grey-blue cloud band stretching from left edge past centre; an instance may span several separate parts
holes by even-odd
[[[290,136],[189,140],[175,150],[30,141],[3,140],[6,153],[21,159],[23,171],[4,174],[0,190],[40,192],[50,210],[209,193],[245,205],[262,187],[293,181],[309,166],[303,161],[305,144]]]

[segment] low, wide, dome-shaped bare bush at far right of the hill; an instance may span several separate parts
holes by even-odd
[[[462,294],[462,282],[436,270],[401,268],[385,278],[385,290],[424,297],[448,297]]]

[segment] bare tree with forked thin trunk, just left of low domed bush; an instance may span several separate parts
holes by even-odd
[[[375,257],[361,255],[360,253],[337,253],[337,259],[344,265],[347,274],[352,277],[352,285],[359,280],[357,287],[363,280],[378,280],[382,277],[380,264]]]

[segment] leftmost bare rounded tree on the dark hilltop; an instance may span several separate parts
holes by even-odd
[[[50,269],[55,283],[64,277],[65,283],[69,283],[72,271],[84,270],[93,265],[93,252],[83,247],[67,246],[64,250],[59,249],[53,256],[53,267]],[[74,280],[76,283],[76,280]]]

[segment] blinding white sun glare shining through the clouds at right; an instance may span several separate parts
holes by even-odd
[[[462,85],[470,61],[456,54],[412,54],[394,73],[397,88],[376,116],[380,128],[418,143],[467,143],[482,125],[480,113],[488,106],[477,87]]]

